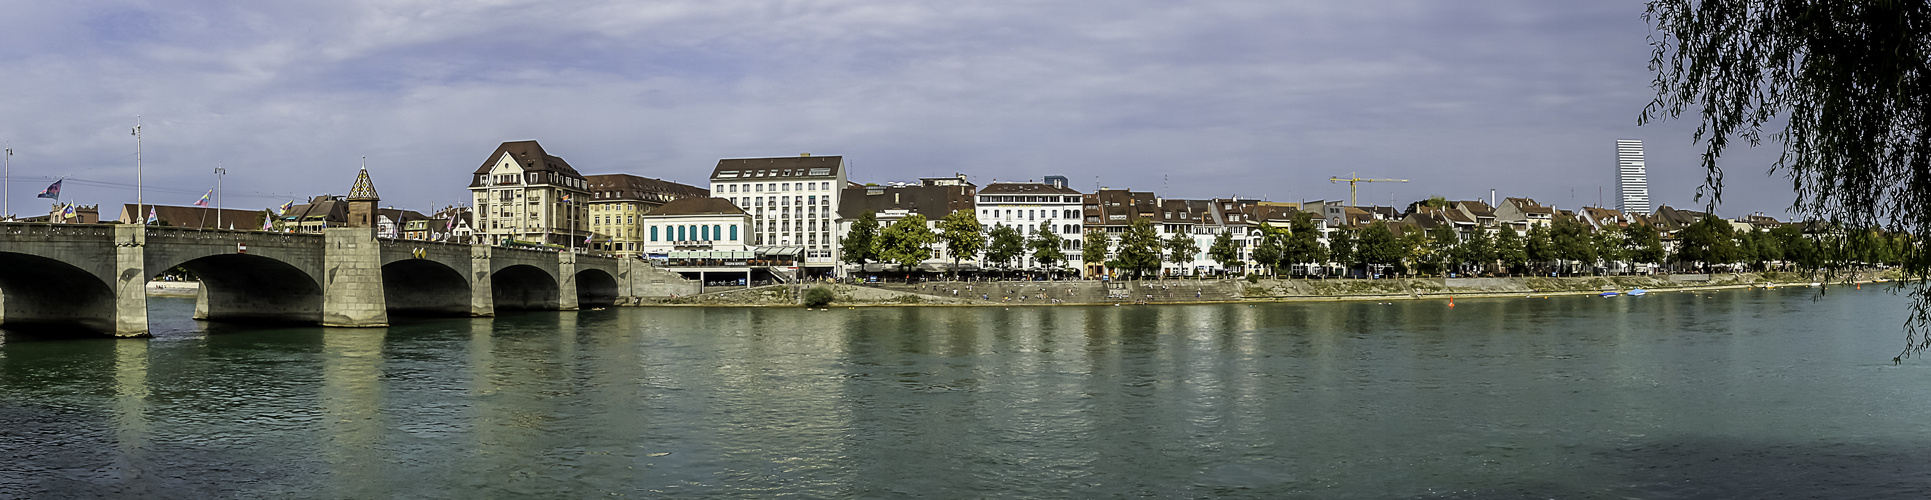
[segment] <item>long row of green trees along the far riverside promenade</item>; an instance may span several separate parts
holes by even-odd
[[[1259,232],[1261,239],[1253,247],[1259,274],[1286,276],[1365,276],[1371,268],[1408,276],[1574,276],[1634,272],[1645,266],[1676,272],[1813,270],[1827,263],[1894,266],[1916,245],[1906,234],[1875,228],[1825,230],[1786,224],[1740,232],[1715,216],[1674,232],[1674,245],[1668,249],[1655,226],[1591,228],[1574,218],[1535,224],[1525,234],[1481,228],[1468,236],[1448,226],[1396,236],[1386,222],[1375,222],[1332,230],[1323,241],[1313,214],[1301,212],[1288,226],[1263,222]],[[1050,222],[1041,222],[1039,232],[1023,236],[1012,226],[987,230],[969,210],[956,210],[937,224],[910,214],[882,228],[875,214],[865,212],[840,245],[846,263],[859,266],[888,263],[900,270],[933,259],[937,247],[944,247],[952,257],[954,272],[962,261],[979,257],[989,266],[1004,270],[1012,270],[1020,257],[1031,257],[1049,274],[1066,263],[1066,241],[1052,232]],[[1228,232],[1217,234],[1205,251],[1222,268],[1244,268],[1240,249]],[[1151,220],[1135,220],[1118,241],[1101,230],[1085,232],[1081,241],[1085,263],[1105,263],[1128,276],[1159,274],[1162,263],[1188,266],[1199,253],[1201,247],[1193,237],[1188,234],[1161,237]]]

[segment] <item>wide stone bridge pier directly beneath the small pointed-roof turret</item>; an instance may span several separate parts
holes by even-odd
[[[322,326],[388,326],[382,245],[373,228],[322,230]]]

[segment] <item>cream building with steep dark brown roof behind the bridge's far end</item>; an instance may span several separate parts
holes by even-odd
[[[469,180],[479,243],[583,245],[589,183],[537,141],[496,147]]]

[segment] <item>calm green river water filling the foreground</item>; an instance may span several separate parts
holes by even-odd
[[[1925,498],[1906,297],[651,307],[0,344],[0,498]]]

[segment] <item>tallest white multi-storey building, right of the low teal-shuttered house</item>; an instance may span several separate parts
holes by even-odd
[[[836,266],[838,195],[846,189],[844,156],[724,158],[711,170],[711,195],[751,214],[747,241],[798,247],[805,276]]]

